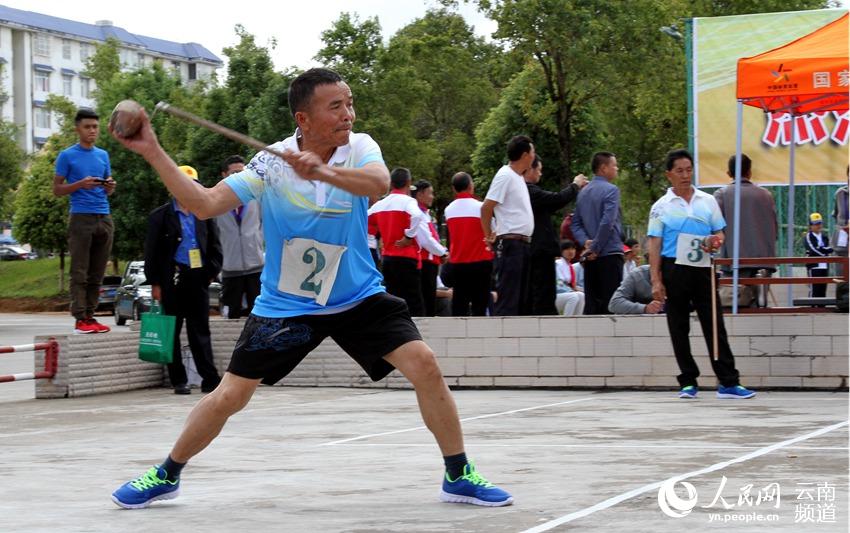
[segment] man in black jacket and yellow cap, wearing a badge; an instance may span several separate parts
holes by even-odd
[[[180,169],[198,179],[190,166]],[[213,363],[210,342],[210,282],[221,270],[221,244],[215,222],[199,220],[177,200],[154,209],[148,217],[145,239],[145,276],[154,300],[167,315],[177,317],[174,354],[168,375],[175,394],[189,394],[186,368],[180,356],[180,330],[186,335],[195,367],[202,378],[201,390],[211,392],[221,380]]]

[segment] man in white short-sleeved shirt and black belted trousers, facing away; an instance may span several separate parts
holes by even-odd
[[[534,213],[522,175],[534,162],[534,144],[525,135],[517,135],[507,148],[508,164],[496,172],[481,206],[481,228],[496,252],[497,316],[527,315],[530,311],[527,293]]]

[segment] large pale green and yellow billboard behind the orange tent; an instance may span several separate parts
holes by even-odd
[[[700,186],[729,183],[726,168],[729,156],[735,153],[738,59],[788,44],[845,13],[843,9],[824,9],[693,19],[693,108],[689,111]],[[789,77],[782,65],[777,65],[776,71],[779,78]],[[829,83],[846,90],[847,70],[830,75]],[[743,151],[753,160],[754,181],[764,185],[788,183],[791,120],[787,114],[765,114],[757,108],[744,107]],[[794,127],[795,183],[846,182],[850,114],[799,116],[794,119]]]

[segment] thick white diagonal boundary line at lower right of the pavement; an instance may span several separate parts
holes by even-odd
[[[850,423],[850,422],[845,420],[843,422],[839,422],[837,424],[833,424],[831,426],[821,428],[817,431],[813,431],[811,433],[807,433],[807,434],[801,435],[799,437],[794,437],[793,439],[788,439],[788,440],[784,440],[782,442],[777,442],[776,444],[771,444],[770,446],[765,446],[764,448],[760,448],[760,449],[758,449],[758,450],[756,450],[752,453],[742,455],[742,456],[737,457],[735,459],[730,459],[728,461],[723,461],[721,463],[715,463],[711,466],[705,467],[705,468],[700,469],[700,470],[694,470],[693,472],[688,472],[686,474],[681,474],[679,476],[672,476],[672,477],[667,478],[663,481],[656,481],[655,483],[650,483],[649,485],[644,485],[643,487],[638,487],[638,488],[630,490],[628,492],[618,494],[617,496],[614,496],[612,498],[608,498],[607,500],[599,502],[596,505],[593,505],[591,507],[587,507],[587,508],[582,509],[580,511],[576,511],[574,513],[564,515],[560,518],[550,520],[550,521],[548,521],[544,524],[540,524],[539,526],[535,526],[535,527],[532,527],[530,529],[526,529],[522,533],[541,533],[543,531],[549,531],[552,528],[564,525],[568,522],[572,522],[573,520],[578,520],[579,518],[584,518],[585,516],[593,514],[597,511],[603,511],[605,509],[608,509],[609,507],[613,507],[614,505],[617,505],[618,503],[622,503],[626,500],[630,500],[630,499],[634,498],[635,496],[640,496],[641,494],[647,493],[647,492],[652,491],[652,490],[656,490],[656,489],[660,488],[661,485],[663,485],[667,481],[682,481],[682,480],[685,480],[685,479],[688,479],[688,478],[691,478],[691,477],[695,477],[695,476],[699,476],[699,475],[702,475],[702,474],[708,474],[709,472],[716,472],[717,470],[721,470],[723,468],[726,468],[727,466],[731,466],[731,465],[737,464],[737,463],[743,463],[744,461],[749,461],[750,459],[755,459],[756,457],[761,457],[762,455],[766,455],[768,453],[774,452],[774,451],[776,451],[780,448],[785,448],[786,446],[790,446],[792,444],[796,444],[796,443],[804,441],[804,440],[812,439],[814,437],[819,437],[819,436],[821,436],[825,433],[829,433],[830,431],[834,431],[836,429],[845,427],[845,426],[848,425],[848,423]]]

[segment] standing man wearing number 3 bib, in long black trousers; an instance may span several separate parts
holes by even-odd
[[[752,398],[755,392],[738,381],[735,358],[726,339],[717,292],[711,290],[711,253],[723,244],[726,222],[717,201],[691,185],[693,157],[687,150],[667,154],[666,175],[672,187],[649,213],[649,264],[653,299],[666,300],[667,328],[681,374],[679,398],[697,396],[699,368],[691,354],[690,308],[696,309],[703,337],[712,353],[712,306],[717,302],[718,359],[711,366],[720,386],[718,398]]]

